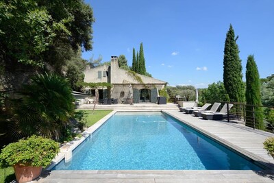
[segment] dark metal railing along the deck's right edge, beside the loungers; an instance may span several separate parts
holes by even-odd
[[[214,101],[210,101],[214,103]],[[264,130],[274,133],[274,107],[273,106],[256,106],[239,102],[219,101],[222,105],[227,105],[227,122],[242,123],[253,129]],[[233,107],[228,110],[228,104],[232,103]]]

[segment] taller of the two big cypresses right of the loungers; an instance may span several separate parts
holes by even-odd
[[[245,101],[245,90],[242,82],[242,64],[239,57],[239,49],[236,43],[234,29],[230,24],[225,39],[225,50],[223,58],[223,84],[230,101]]]

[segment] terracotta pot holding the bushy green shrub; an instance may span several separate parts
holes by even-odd
[[[38,178],[42,171],[42,167],[21,166],[19,164],[15,164],[13,169],[16,180],[19,183],[29,182]]]

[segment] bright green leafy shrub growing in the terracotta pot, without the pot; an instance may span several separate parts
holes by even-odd
[[[14,164],[47,167],[59,150],[59,144],[55,141],[33,135],[4,147],[0,154],[0,165],[1,167],[10,167]]]

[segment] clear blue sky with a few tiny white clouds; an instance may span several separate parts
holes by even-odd
[[[223,82],[223,49],[231,23],[245,81],[253,54],[260,77],[274,74],[274,0],[86,0],[93,8],[93,50],[82,57],[125,55],[143,43],[147,72],[170,86]]]

